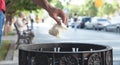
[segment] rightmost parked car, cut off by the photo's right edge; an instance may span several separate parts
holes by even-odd
[[[111,20],[111,24],[107,25],[105,27],[105,30],[120,33],[120,16],[113,17],[112,20]]]

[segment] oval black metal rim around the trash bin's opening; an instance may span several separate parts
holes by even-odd
[[[95,46],[101,46],[105,47],[104,49],[100,50],[93,50],[93,51],[78,51],[78,52],[72,52],[72,51],[60,51],[60,52],[54,52],[54,51],[35,51],[35,50],[28,50],[26,49],[28,46],[32,45],[60,45],[60,44],[84,44],[84,45],[95,45]],[[24,48],[23,48],[24,47]],[[80,42],[57,42],[57,43],[40,43],[40,44],[26,44],[26,45],[20,45],[19,50],[24,50],[26,52],[36,52],[36,53],[95,53],[95,52],[106,52],[108,50],[112,50],[113,48],[108,45],[103,44],[95,44],[95,43],[80,43]]]

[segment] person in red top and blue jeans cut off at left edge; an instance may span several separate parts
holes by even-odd
[[[5,0],[0,0],[0,48],[1,48],[2,35],[3,35],[2,29],[5,20],[5,12],[6,12]]]

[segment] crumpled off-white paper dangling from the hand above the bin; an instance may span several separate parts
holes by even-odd
[[[49,34],[53,35],[55,37],[60,38],[60,33],[64,32],[65,30],[67,30],[67,27],[64,23],[61,23],[61,25],[59,24],[55,24],[53,25],[53,27],[49,30]]]

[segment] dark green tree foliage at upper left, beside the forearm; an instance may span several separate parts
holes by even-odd
[[[6,0],[7,11],[15,13],[17,10],[36,10],[39,7],[32,0]]]

